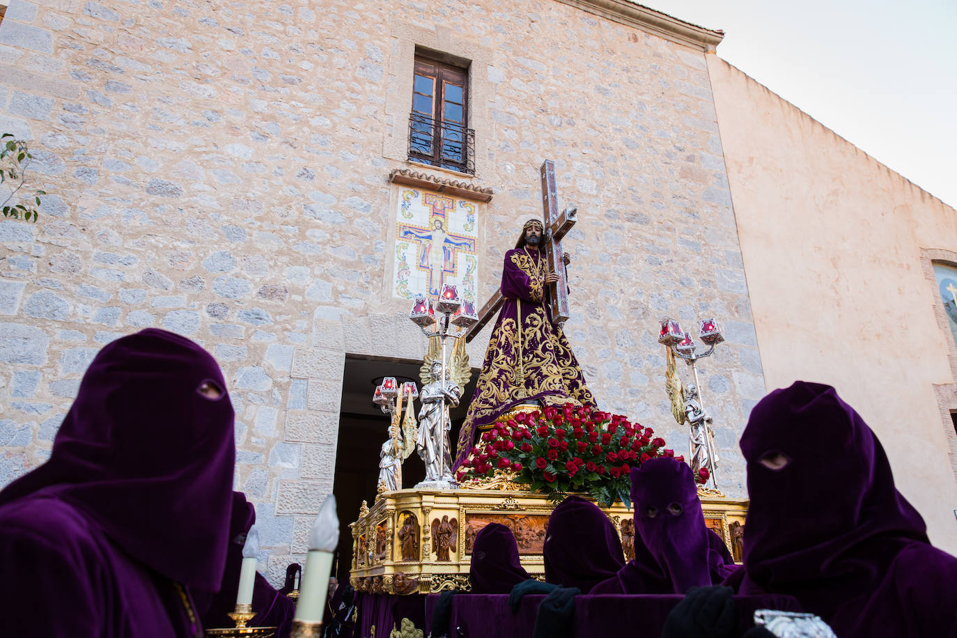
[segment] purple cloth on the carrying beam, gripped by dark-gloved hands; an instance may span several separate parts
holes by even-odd
[[[678,595],[576,596],[571,635],[582,638],[660,636],[668,613],[681,602],[681,598]],[[432,618],[437,600],[435,594],[428,597],[427,619]],[[449,638],[527,638],[532,635],[536,612],[544,600],[545,596],[541,595],[525,596],[518,613],[512,613],[508,607],[508,596],[456,596],[452,603]],[[735,596],[734,605],[738,619],[733,634],[736,636],[753,626],[755,609],[769,607],[800,611],[796,602],[788,596]],[[431,629],[426,628],[426,635]],[[378,630],[376,635],[379,635]]]

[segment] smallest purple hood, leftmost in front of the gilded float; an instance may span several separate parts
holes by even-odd
[[[512,530],[499,523],[479,530],[469,566],[473,594],[507,594],[530,578],[519,561],[519,545]]]

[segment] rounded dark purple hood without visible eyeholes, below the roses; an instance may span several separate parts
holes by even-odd
[[[548,518],[545,581],[578,587],[583,594],[611,578],[625,564],[612,521],[594,503],[568,496]]]

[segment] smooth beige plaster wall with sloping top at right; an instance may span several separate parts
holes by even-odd
[[[707,60],[768,389],[835,385],[931,539],[957,551],[954,344],[929,272],[953,259],[957,211]]]

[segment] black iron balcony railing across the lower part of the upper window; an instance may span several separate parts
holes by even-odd
[[[476,132],[450,121],[418,113],[409,118],[409,159],[475,175]]]

